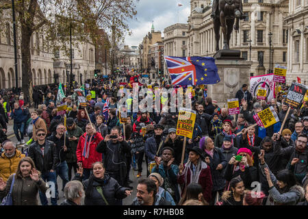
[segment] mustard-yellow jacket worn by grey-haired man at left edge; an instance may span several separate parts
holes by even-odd
[[[13,157],[6,157],[4,152],[0,157],[0,177],[2,177],[3,181],[7,181],[10,175],[16,172],[17,167],[21,159],[25,157],[21,151],[16,149],[15,155]]]

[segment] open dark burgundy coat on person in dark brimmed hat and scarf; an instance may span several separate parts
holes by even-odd
[[[188,168],[187,175],[185,175],[185,164],[184,170],[182,175],[177,175],[177,182],[181,186],[181,196],[183,196],[183,191],[185,190],[186,186],[190,184],[190,168]],[[187,184],[185,183],[185,178]],[[211,181],[211,169],[205,162],[201,164],[201,173],[198,179],[198,184],[200,184],[203,188],[203,198],[205,201],[209,203],[211,201],[211,190],[213,189],[213,182]]]

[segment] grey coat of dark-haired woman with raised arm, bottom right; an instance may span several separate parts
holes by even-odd
[[[259,165],[262,174],[265,176],[264,168],[268,168],[267,164]],[[276,177],[270,171],[270,179],[274,185],[277,184]],[[300,185],[293,185],[288,192],[281,194],[276,187],[270,188],[268,190],[269,196],[266,201],[266,205],[296,205],[300,201],[303,201],[305,197],[305,191]]]

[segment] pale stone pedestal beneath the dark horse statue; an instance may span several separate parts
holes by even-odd
[[[235,98],[243,83],[248,84],[253,62],[242,60],[215,60],[220,82],[207,85],[207,94],[218,102],[219,107],[228,107],[227,99]],[[240,101],[240,100],[239,100]]]

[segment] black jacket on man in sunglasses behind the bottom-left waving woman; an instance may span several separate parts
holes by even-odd
[[[29,146],[28,156],[33,159],[36,164],[36,169],[40,172],[47,172],[49,170],[55,170],[57,164],[57,150],[55,149],[55,143],[45,140],[44,144],[44,156],[42,155],[40,145],[38,142],[34,142]]]

